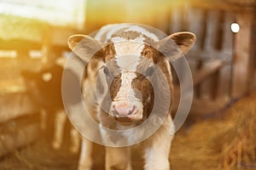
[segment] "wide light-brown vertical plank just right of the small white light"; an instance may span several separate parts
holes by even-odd
[[[241,29],[235,35],[233,55],[231,93],[235,98],[245,94],[248,89],[253,14],[241,13],[236,17]]]

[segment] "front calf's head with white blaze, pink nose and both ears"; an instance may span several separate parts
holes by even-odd
[[[74,35],[69,37],[68,46],[85,62],[94,55],[102,63],[99,73],[108,84],[111,98],[108,114],[119,122],[139,122],[152,110],[152,81],[158,78],[157,70],[171,79],[168,59],[178,59],[194,42],[195,35],[190,32],[174,33],[155,42],[141,33],[127,31],[113,35],[105,45],[89,36]]]

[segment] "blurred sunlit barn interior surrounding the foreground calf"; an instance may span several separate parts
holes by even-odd
[[[77,134],[55,111],[61,72],[49,70],[69,56],[69,36],[113,23],[197,37],[186,54],[193,101],[172,142],[172,169],[256,169],[255,20],[255,0],[0,0],[0,169],[78,168]],[[173,72],[176,111],[183,78]],[[56,145],[55,124],[61,123]],[[139,151],[134,169],[143,169]],[[101,145],[93,157],[93,169],[104,169]]]

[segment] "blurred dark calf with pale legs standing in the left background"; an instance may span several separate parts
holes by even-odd
[[[52,140],[52,147],[54,149],[61,148],[65,122],[67,122],[67,116],[61,99],[62,71],[63,67],[55,64],[49,69],[36,73],[32,71],[22,72],[28,92],[40,110],[41,127],[43,130],[47,127],[47,114],[54,113],[50,114],[50,116],[55,116]],[[73,128],[71,129],[70,134],[72,136],[70,150],[72,152],[77,152],[79,150],[79,134]]]

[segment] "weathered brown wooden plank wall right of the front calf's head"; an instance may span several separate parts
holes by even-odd
[[[169,32],[195,33],[195,46],[186,54],[194,79],[194,100],[199,101],[194,103],[198,107],[207,104],[209,110],[204,113],[218,111],[256,87],[255,8],[219,1],[192,2],[171,8]],[[238,33],[230,29],[235,22],[240,25]]]

